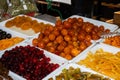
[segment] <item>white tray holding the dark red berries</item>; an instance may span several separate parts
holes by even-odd
[[[21,43],[21,44],[18,44],[18,45],[16,45],[16,46],[27,46],[27,45],[29,45],[29,44]],[[30,45],[30,46],[32,46],[32,45]],[[14,46],[14,47],[15,47],[15,46]],[[14,47],[9,48],[8,50],[11,50],[11,49],[14,48]],[[0,58],[2,57],[3,54],[4,54],[4,51],[0,52]],[[49,52],[47,52],[47,51],[45,51],[45,50],[44,50],[44,54],[45,54],[45,56],[47,56],[47,57],[49,57],[49,58],[51,59],[51,61],[50,61],[51,63],[59,64],[60,66],[68,63],[68,61],[67,61],[66,59],[61,58],[61,57],[59,57],[59,56],[56,56],[56,55],[54,55],[54,54],[51,54],[51,53],[49,53]],[[53,72],[54,72],[54,71],[53,71]],[[52,72],[51,72],[51,73],[52,73]],[[23,77],[15,74],[15,73],[13,73],[13,72],[11,72],[11,71],[10,71],[9,75],[10,75],[14,80],[25,80],[25,78],[23,78]]]

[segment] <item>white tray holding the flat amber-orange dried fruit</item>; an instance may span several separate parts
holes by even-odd
[[[18,16],[27,16],[27,15],[18,15]],[[16,17],[16,16],[15,16],[15,17]],[[3,28],[5,28],[5,23],[6,23],[7,21],[9,21],[9,20],[14,19],[15,17],[0,22],[0,26],[2,26]],[[29,17],[30,17],[30,16],[29,16]],[[38,22],[43,22],[43,23],[45,23],[45,24],[54,25],[53,23],[48,22],[48,21],[45,21],[45,20],[37,19],[37,18],[34,18],[34,17],[30,17],[30,18],[31,18],[32,20],[37,20]],[[6,27],[6,28],[7,28],[7,27]],[[24,34],[24,35],[26,35],[26,36],[29,36],[29,37],[37,34],[37,33],[34,33],[31,29],[29,29],[29,30],[22,30],[22,29],[16,28],[16,27],[15,27],[15,28],[8,28],[8,29],[14,30],[14,31],[19,32],[19,33],[22,33],[22,34]]]

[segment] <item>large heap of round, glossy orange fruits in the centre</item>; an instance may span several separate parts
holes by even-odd
[[[104,26],[84,22],[82,18],[68,18],[46,27],[32,43],[70,60],[90,46],[91,40],[98,40],[102,32],[109,31]]]

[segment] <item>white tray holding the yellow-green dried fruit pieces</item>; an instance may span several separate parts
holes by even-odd
[[[80,66],[80,65],[78,65],[78,64],[76,64],[76,63],[70,63],[70,64],[64,64],[63,66],[61,66],[61,67],[58,68],[56,71],[54,71],[52,74],[49,74],[47,77],[45,77],[45,78],[42,79],[42,80],[48,80],[49,78],[53,78],[53,80],[55,80],[55,76],[59,75],[59,74],[62,72],[63,69],[65,69],[65,68],[66,68],[66,69],[69,69],[69,67],[80,68],[81,72],[90,72],[90,73],[92,73],[92,74],[98,74],[98,75],[100,75],[100,76],[103,76],[103,77],[108,78],[107,76],[104,76],[104,75],[102,75],[102,74],[100,74],[100,73],[97,73],[97,72],[95,72],[95,71],[93,71],[93,70],[90,70],[90,69],[88,69],[88,68],[82,67],[82,66]],[[112,79],[111,79],[111,80],[112,80]]]

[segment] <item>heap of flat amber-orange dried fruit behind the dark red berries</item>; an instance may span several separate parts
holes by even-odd
[[[37,20],[32,20],[29,16],[17,16],[14,19],[8,20],[5,23],[7,28],[18,27],[22,30],[32,29],[35,33],[41,32],[46,26],[51,26],[50,24],[44,24],[43,22],[38,22]]]

